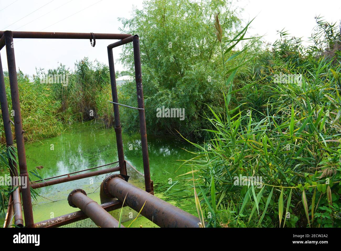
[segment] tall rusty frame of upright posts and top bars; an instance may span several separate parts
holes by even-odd
[[[24,131],[23,131],[23,125],[22,125],[22,119],[21,119],[21,112],[20,112],[20,100],[19,100],[19,92],[18,92],[18,80],[17,80],[16,65],[15,65],[13,38],[89,39],[91,42],[91,46],[95,45],[95,39],[119,39],[120,40],[116,43],[108,45],[107,50],[108,50],[108,61],[109,61],[109,69],[110,69],[110,82],[111,82],[112,96],[113,96],[113,102],[114,102],[113,106],[114,106],[114,116],[115,116],[116,143],[117,143],[119,169],[120,169],[119,171],[123,175],[126,175],[127,171],[126,171],[126,164],[125,164],[124,153],[123,153],[122,129],[121,129],[120,119],[119,119],[119,107],[118,107],[115,68],[114,68],[114,59],[113,59],[112,49],[114,47],[133,42],[136,94],[137,94],[137,103],[138,103],[138,108],[139,108],[138,113],[139,113],[139,123],[140,123],[143,168],[144,168],[144,176],[145,176],[145,188],[147,192],[153,194],[153,183],[150,179],[150,170],[149,170],[148,143],[147,143],[147,134],[146,134],[146,120],[145,120],[144,98],[143,98],[143,89],[142,89],[141,59],[140,59],[138,35],[132,36],[131,34],[107,34],[107,33],[94,34],[94,33],[70,33],[70,32],[0,31],[0,50],[3,47],[6,47],[6,54],[7,54],[7,63],[8,63],[11,98],[12,98],[12,109],[14,110],[14,129],[15,129],[16,145],[17,145],[17,152],[18,152],[18,163],[19,163],[19,171],[20,171],[19,176],[27,178],[27,181],[29,181],[28,172],[27,172],[27,164],[26,164],[25,142],[24,142],[24,135],[23,135]],[[92,39],[94,40],[93,44],[92,44]],[[0,64],[1,64],[1,59],[0,59]],[[2,114],[3,115],[5,114],[5,116],[3,116],[3,120],[4,120],[6,144],[8,145],[8,147],[12,147],[13,136],[12,136],[12,129],[11,129],[11,124],[10,124],[11,120],[9,119],[9,115],[7,116],[9,112],[8,112],[6,91],[4,88],[2,66],[0,68],[1,68],[0,101],[1,101]],[[11,171],[11,175],[14,175],[14,176],[18,175],[17,173],[15,173],[15,170],[17,170],[16,166],[13,163],[12,165],[13,165],[13,169],[12,169],[13,172]],[[61,179],[60,181],[66,182],[68,180]],[[46,186],[49,184],[48,183],[46,184],[43,182],[43,183],[40,183],[40,185]],[[32,188],[34,186],[38,186],[38,185],[32,184]],[[20,187],[20,192],[21,192],[22,201],[23,201],[25,226],[33,227],[34,221],[33,221],[33,212],[32,212],[30,183],[29,182],[27,183],[26,188]],[[19,208],[18,205],[15,208]]]

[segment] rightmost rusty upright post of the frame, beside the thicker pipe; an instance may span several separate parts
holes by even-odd
[[[135,79],[136,79],[136,94],[138,108],[145,108],[143,89],[142,89],[142,72],[141,72],[141,58],[140,58],[140,42],[138,35],[133,37],[133,49],[134,49],[134,65],[135,65]],[[148,156],[148,142],[147,142],[147,129],[145,110],[138,110],[138,117],[140,122],[140,134],[142,145],[142,158],[143,158],[143,170],[145,175],[146,191],[153,194],[153,189],[150,180],[149,170],[149,156]]]

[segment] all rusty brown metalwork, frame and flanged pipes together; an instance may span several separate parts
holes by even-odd
[[[147,142],[147,130],[146,130],[146,119],[145,119],[145,107],[144,107],[144,97],[143,97],[143,88],[142,88],[142,71],[141,71],[141,59],[140,59],[140,47],[139,47],[139,37],[138,35],[131,34],[106,34],[106,33],[65,33],[65,32],[23,32],[23,31],[0,31],[0,49],[5,45],[6,53],[8,59],[8,69],[9,69],[9,79],[10,79],[10,88],[11,88],[11,97],[12,97],[12,107],[15,112],[14,116],[14,127],[15,127],[15,136],[17,142],[17,151],[18,151],[18,163],[20,176],[27,178],[27,187],[20,187],[21,195],[23,198],[23,206],[24,206],[24,216],[25,216],[25,225],[28,227],[36,226],[60,226],[64,224],[68,224],[77,220],[80,220],[84,217],[91,218],[97,225],[101,227],[115,227],[118,226],[118,221],[114,219],[110,214],[107,213],[106,209],[103,209],[103,206],[98,205],[96,202],[91,200],[86,196],[86,193],[83,190],[75,190],[70,193],[68,201],[70,205],[79,207],[83,212],[82,213],[73,213],[74,215],[66,215],[68,219],[65,217],[50,219],[44,222],[33,223],[33,214],[32,214],[32,203],[31,203],[31,193],[30,187],[32,188],[40,188],[46,187],[50,185],[60,184],[63,182],[69,182],[76,179],[92,177],[100,174],[120,171],[120,174],[125,177],[127,175],[126,170],[126,162],[124,160],[123,153],[123,142],[122,142],[122,128],[120,125],[120,117],[119,117],[119,104],[117,98],[117,87],[116,87],[116,76],[115,76],[115,67],[114,67],[114,59],[113,59],[113,51],[114,47],[124,45],[130,42],[133,42],[133,52],[134,52],[134,67],[135,67],[135,80],[136,80],[136,94],[137,94],[137,103],[138,107],[134,109],[138,109],[139,113],[139,126],[140,126],[140,135],[141,135],[141,146],[142,146],[142,157],[143,157],[143,168],[144,168],[144,177],[145,177],[145,189],[139,189],[132,184],[129,184],[124,177],[120,175],[109,176],[101,186],[101,200],[108,200],[107,203],[112,203],[110,205],[117,206],[118,203],[122,205],[121,202],[112,201],[113,199],[110,197],[116,197],[118,200],[123,201],[125,195],[127,195],[126,205],[129,205],[136,211],[139,211],[143,204],[146,202],[142,210],[142,215],[155,222],[157,225],[162,227],[198,227],[198,218],[186,213],[185,211],[157,198],[154,197],[153,194],[153,183],[150,179],[150,170],[149,170],[149,156],[148,156],[148,142]],[[117,151],[118,151],[118,163],[119,166],[115,168],[109,168],[100,171],[93,171],[89,173],[83,174],[75,174],[68,175],[67,177],[57,176],[59,178],[48,180],[48,181],[39,181],[35,182],[30,186],[27,166],[26,166],[26,156],[25,156],[25,145],[24,145],[24,136],[23,136],[23,125],[21,120],[21,112],[20,112],[20,103],[19,103],[19,94],[18,94],[18,81],[16,74],[16,66],[15,66],[15,57],[14,57],[14,48],[13,48],[13,38],[48,38],[48,39],[89,39],[91,41],[91,45],[95,45],[95,39],[119,39],[120,41],[110,44],[107,47],[108,51],[108,60],[109,60],[109,70],[110,70],[110,83],[112,88],[112,97],[113,97],[113,106],[114,106],[114,117],[115,117],[115,133],[116,133],[116,143],[117,143]],[[93,40],[93,44],[92,44]],[[3,76],[2,76],[3,78]],[[4,81],[3,81],[4,82]],[[3,85],[4,87],[4,85]],[[0,90],[1,98],[1,106],[5,106],[4,100],[6,99],[6,93]],[[6,100],[7,101],[7,100]],[[7,104],[7,102],[6,102]],[[7,106],[7,105],[6,105]],[[129,106],[127,106],[129,107]],[[133,108],[133,107],[130,107]],[[3,114],[9,114],[8,109],[2,111]],[[6,115],[3,116],[4,125],[6,124],[7,128],[11,128],[11,120],[6,118]],[[10,129],[5,128],[6,139],[9,139],[9,146],[13,145],[13,137],[9,134]],[[9,136],[9,137],[7,137]],[[12,142],[11,142],[12,139]],[[15,169],[15,168],[13,168]],[[76,173],[76,172],[75,172]],[[14,171],[13,171],[14,175]],[[109,196],[111,194],[112,196]],[[19,201],[20,201],[20,193],[19,189],[16,189],[16,192],[13,193],[14,197],[16,197],[16,203],[11,203],[11,207],[13,206],[19,209]],[[19,195],[19,196],[17,196]],[[10,195],[12,196],[12,194]],[[18,199],[19,197],[19,199]],[[105,198],[107,197],[107,198]],[[108,199],[109,198],[109,199]],[[13,200],[13,198],[11,198]],[[10,207],[9,207],[10,209]],[[13,209],[12,209],[13,211]]]

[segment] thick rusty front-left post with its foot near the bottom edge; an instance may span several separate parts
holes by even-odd
[[[21,186],[21,194],[23,197],[22,199],[23,199],[23,206],[24,206],[25,225],[28,227],[32,227],[33,226],[32,201],[31,201],[30,182],[28,178],[27,165],[26,165],[23,124],[21,122],[18,79],[17,79],[17,71],[16,71],[15,57],[14,57],[13,32],[5,31],[4,36],[5,36],[8,73],[9,73],[9,78],[10,78],[10,87],[11,87],[11,96],[12,96],[12,109],[14,110],[14,130],[15,130],[15,138],[16,138],[17,151],[18,151],[20,178],[21,178],[21,181],[25,180],[27,182],[26,188]]]

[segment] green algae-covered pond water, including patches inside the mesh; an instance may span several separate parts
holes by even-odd
[[[124,158],[143,173],[140,136],[122,135]],[[27,143],[26,159],[28,170],[42,166],[38,173],[43,178],[67,174],[118,161],[116,137],[113,128],[104,128],[93,122],[79,123],[58,137]],[[186,142],[167,137],[148,136],[148,151],[154,193],[159,198],[196,215],[194,199],[181,185],[177,177],[188,172],[180,167],[181,161],[189,159],[192,146]],[[38,179],[36,177],[32,177]],[[175,184],[175,185],[174,185]],[[172,189],[167,190],[170,186]],[[100,203],[99,193],[89,197]],[[66,201],[57,201],[33,207],[34,222],[54,218],[75,211]],[[1,220],[0,220],[1,221]],[[3,219],[2,219],[3,221]],[[124,222],[128,226],[130,222]],[[144,217],[139,217],[132,227],[155,227]]]

